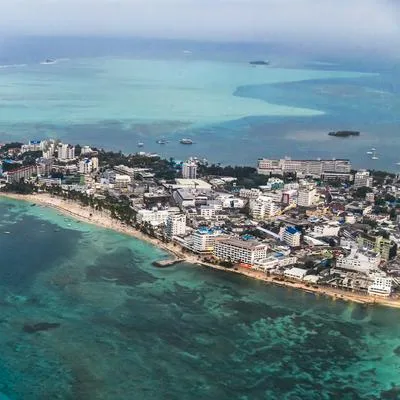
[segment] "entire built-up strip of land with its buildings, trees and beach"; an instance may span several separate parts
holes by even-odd
[[[0,148],[0,194],[131,235],[181,261],[316,295],[400,307],[400,180],[349,160],[257,167],[57,140]],[[4,232],[12,234],[12,232]]]

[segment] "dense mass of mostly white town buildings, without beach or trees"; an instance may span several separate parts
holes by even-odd
[[[87,146],[76,155],[68,144],[30,142],[19,152],[41,154],[35,165],[5,172],[6,182],[34,174],[50,180],[52,171],[83,176],[79,184],[59,184],[92,196],[128,197],[138,228],[208,262],[379,296],[400,284],[400,218],[393,203],[400,181],[374,184],[370,172],[352,172],[349,160],[261,159],[257,172],[267,183],[248,188],[235,176],[199,176],[196,158],[166,181],[151,166],[103,165]],[[333,187],[333,181],[346,183]]]

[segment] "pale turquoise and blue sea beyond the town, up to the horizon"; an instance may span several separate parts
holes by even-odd
[[[58,61],[42,65],[48,57]],[[252,67],[254,59],[271,66]],[[393,61],[252,44],[39,38],[3,43],[0,62],[0,141],[58,137],[126,152],[141,141],[165,157],[224,164],[292,156],[398,168]],[[341,129],[362,135],[327,135]],[[157,145],[161,137],[169,143]],[[195,145],[180,145],[182,137]],[[371,147],[379,160],[367,156]]]

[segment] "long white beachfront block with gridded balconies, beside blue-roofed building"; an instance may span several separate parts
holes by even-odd
[[[266,258],[267,245],[255,240],[216,239],[214,255],[221,260],[254,265],[256,261]]]

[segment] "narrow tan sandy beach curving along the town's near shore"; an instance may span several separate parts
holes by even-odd
[[[132,236],[136,239],[148,242],[156,247],[165,250],[166,252],[171,254],[171,256],[174,257],[175,259],[181,259],[191,264],[198,264],[204,267],[213,268],[220,271],[237,273],[266,283],[270,284],[272,283],[274,285],[278,285],[281,287],[293,288],[308,293],[313,293],[317,296],[326,296],[332,299],[352,301],[361,304],[379,304],[387,307],[400,308],[400,299],[397,298],[395,299],[395,298],[372,297],[368,295],[347,292],[330,287],[312,287],[312,286],[308,287],[301,282],[277,281],[275,280],[276,277],[274,279],[274,276],[267,276],[265,273],[260,271],[254,271],[246,268],[240,268],[235,270],[235,269],[220,267],[214,264],[204,263],[203,261],[201,261],[199,257],[188,254],[186,252],[182,252],[179,246],[177,245],[173,245],[172,243],[163,243],[158,239],[151,238],[143,234],[142,232],[136,230],[133,227],[128,227],[126,225],[121,224],[119,221],[112,219],[107,211],[101,211],[101,212],[95,211],[89,207],[81,206],[80,204],[71,200],[63,200],[58,197],[51,197],[48,194],[18,195],[18,194],[0,192],[0,196],[14,200],[32,202],[46,207],[50,207],[56,209],[57,211],[59,211],[64,215],[71,216],[77,220]]]

